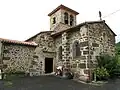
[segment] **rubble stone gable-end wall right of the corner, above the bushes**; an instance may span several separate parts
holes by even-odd
[[[115,35],[105,25],[105,23],[88,24],[90,66],[95,67],[96,56],[102,53],[115,54]]]

